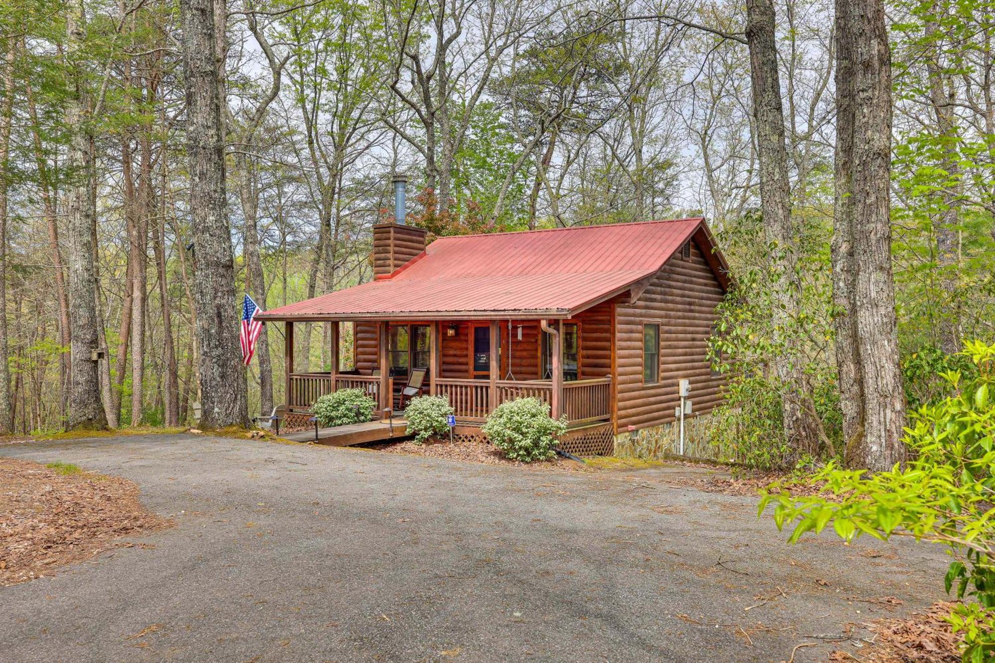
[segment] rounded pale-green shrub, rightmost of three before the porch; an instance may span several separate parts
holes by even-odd
[[[566,432],[566,423],[550,417],[549,406],[538,398],[517,398],[498,405],[483,430],[504,456],[531,463],[555,454],[556,438]]]

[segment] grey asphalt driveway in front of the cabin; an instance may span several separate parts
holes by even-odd
[[[802,642],[822,644],[796,661],[826,660],[859,649],[806,635],[943,596],[938,547],[791,547],[756,500],[669,486],[680,469],[531,471],[196,435],[0,455],[126,477],[175,522],[0,587],[2,660],[777,661]]]

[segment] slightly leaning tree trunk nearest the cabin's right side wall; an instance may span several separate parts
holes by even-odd
[[[780,382],[784,434],[792,448],[816,455],[817,426],[813,414],[802,405],[802,399],[810,390],[793,329],[799,320],[801,282],[791,222],[788,151],[784,144],[784,110],[771,0],[748,0],[746,3],[746,40],[760,161],[764,237],[772,252],[774,340],[781,346],[774,364]]]

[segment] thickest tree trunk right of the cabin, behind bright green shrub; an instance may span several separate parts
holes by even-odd
[[[836,12],[838,71],[846,76],[837,89],[846,110],[837,120],[837,159],[848,165],[837,195],[852,201],[837,214],[847,215],[843,227],[850,229],[854,279],[847,312],[864,396],[863,435],[850,440],[847,451],[853,463],[879,471],[905,458],[889,200],[892,67],[881,0],[838,0]]]

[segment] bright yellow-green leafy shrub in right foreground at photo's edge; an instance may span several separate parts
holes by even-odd
[[[848,542],[868,534],[947,547],[953,558],[945,577],[947,591],[977,600],[959,605],[949,618],[954,630],[963,633],[963,659],[993,661],[995,345],[967,342],[961,354],[972,363],[972,377],[964,380],[956,370],[941,373],[955,395],[922,405],[911,415],[904,442],[913,460],[905,468],[896,465],[891,472],[866,476],[864,470],[840,470],[830,463],[812,477],[826,482],[821,495],[792,498],[768,492],[759,513],[774,503],[778,529],[797,521],[791,543],[832,523]]]

